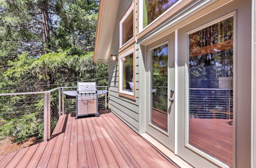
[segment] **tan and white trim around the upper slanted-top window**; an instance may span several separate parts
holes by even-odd
[[[131,41],[135,40],[135,8],[134,8],[135,4],[134,2],[132,3],[131,7],[126,11],[126,13],[123,15],[122,19],[119,22],[119,49],[123,48],[124,46],[126,46],[127,44],[130,44]],[[123,44],[123,22],[126,20],[126,18],[131,14],[131,12],[133,12],[133,38],[131,38],[130,40],[128,40],[126,43]]]

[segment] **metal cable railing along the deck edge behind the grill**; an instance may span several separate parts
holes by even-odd
[[[76,100],[67,99],[66,90],[77,87],[0,94],[0,155],[49,141],[59,117],[76,112]],[[108,99],[108,94],[99,96],[99,110],[108,109]]]

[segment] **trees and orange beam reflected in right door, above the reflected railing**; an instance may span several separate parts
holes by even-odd
[[[233,76],[233,17],[189,35],[190,88],[219,88]]]

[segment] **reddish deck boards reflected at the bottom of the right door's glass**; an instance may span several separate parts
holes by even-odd
[[[189,119],[189,144],[232,167],[233,126],[225,119]]]

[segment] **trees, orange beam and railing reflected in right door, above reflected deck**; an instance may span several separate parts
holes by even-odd
[[[189,117],[233,118],[233,17],[189,35]]]

